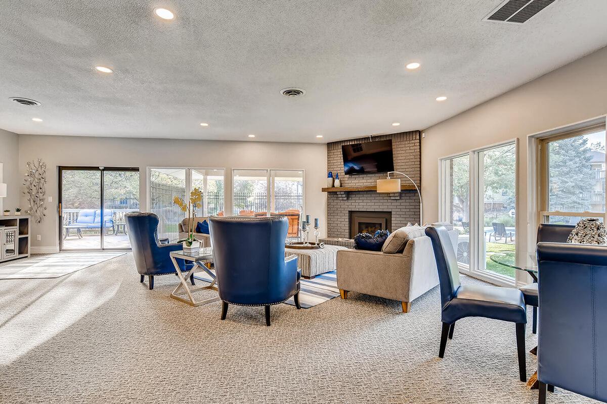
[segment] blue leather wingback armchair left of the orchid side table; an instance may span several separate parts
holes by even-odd
[[[171,261],[169,253],[181,250],[181,244],[168,244],[168,239],[158,240],[158,216],[154,213],[132,212],[124,214],[126,227],[131,240],[131,248],[135,257],[137,272],[141,275],[140,282],[144,277],[149,277],[149,288],[154,289],[154,276],[175,273],[175,265]],[[164,242],[164,243],[162,243]],[[192,264],[186,264],[182,259],[177,259],[181,272],[192,269]],[[190,282],[194,285],[194,274],[190,276]]]

